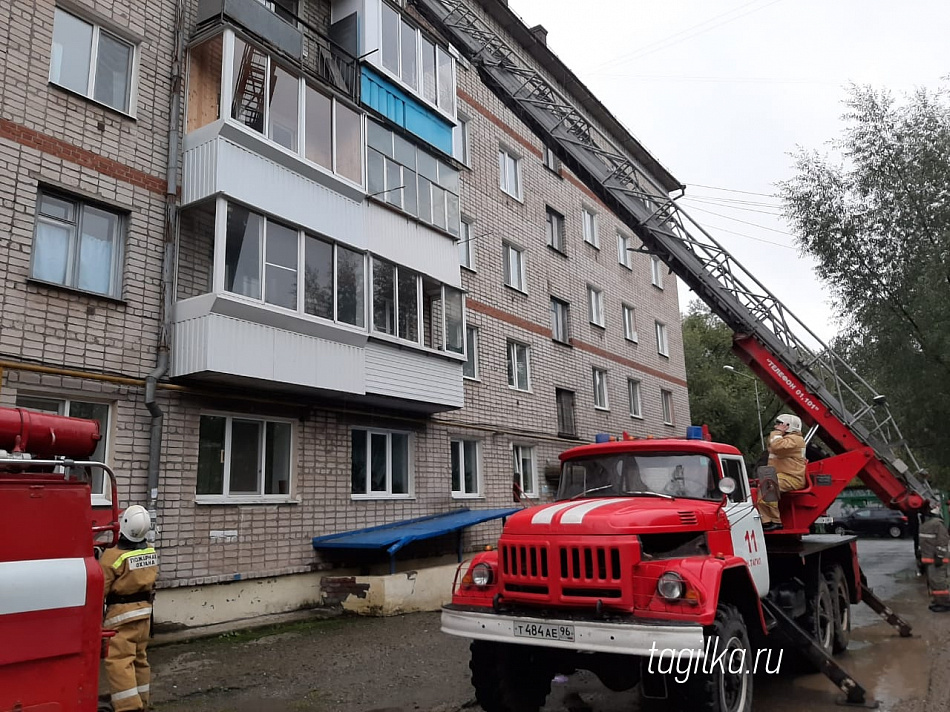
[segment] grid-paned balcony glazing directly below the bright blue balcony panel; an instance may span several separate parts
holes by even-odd
[[[458,236],[458,171],[375,121],[366,142],[370,195]]]

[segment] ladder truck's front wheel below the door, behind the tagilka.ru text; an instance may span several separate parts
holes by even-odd
[[[752,646],[738,608],[719,604],[716,620],[706,629],[704,650],[710,658],[700,663],[697,674],[670,686],[678,703],[674,709],[752,712]]]

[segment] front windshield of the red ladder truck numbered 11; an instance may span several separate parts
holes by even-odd
[[[569,460],[558,500],[663,495],[719,501],[716,465],[705,455],[622,453]]]

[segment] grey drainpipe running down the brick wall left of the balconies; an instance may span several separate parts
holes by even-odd
[[[148,443],[148,511],[157,522],[158,477],[162,461],[162,424],[164,413],[156,402],[158,379],[168,372],[169,332],[171,331],[172,291],[174,289],[175,240],[178,226],[178,150],[181,133],[182,54],[185,42],[185,11],[178,0],[175,19],[175,53],[171,71],[171,111],[168,126],[168,156],[165,169],[165,240],[162,255],[162,307],[156,364],[145,377],[145,407],[152,416]],[[158,532],[156,526],[154,531]]]

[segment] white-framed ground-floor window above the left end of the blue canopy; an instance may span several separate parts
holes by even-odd
[[[350,434],[354,497],[408,497],[412,487],[409,434],[354,429]]]

